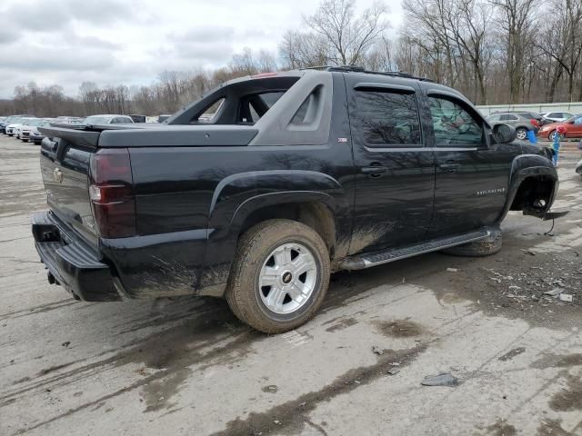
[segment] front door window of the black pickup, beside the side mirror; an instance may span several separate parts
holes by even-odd
[[[437,147],[485,144],[481,123],[460,104],[439,97],[428,97]],[[503,121],[503,116],[502,121]]]

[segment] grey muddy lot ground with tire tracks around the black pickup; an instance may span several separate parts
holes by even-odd
[[[510,213],[495,256],[337,273],[311,322],[266,336],[218,300],[50,286],[28,218],[38,147],[0,136],[0,434],[582,435],[579,157],[551,233]],[[458,385],[421,385],[443,372]]]

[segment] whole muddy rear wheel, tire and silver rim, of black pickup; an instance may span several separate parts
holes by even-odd
[[[294,275],[295,265],[301,267]],[[310,269],[301,272],[306,265]],[[250,228],[238,241],[226,301],[239,320],[259,332],[288,332],[307,322],[319,309],[329,273],[326,243],[316,231],[295,221],[268,220]],[[274,284],[266,284],[269,282]],[[303,290],[294,291],[295,299],[286,292],[294,286]]]

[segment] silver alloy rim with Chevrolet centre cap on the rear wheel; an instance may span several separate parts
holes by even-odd
[[[266,257],[258,292],[266,308],[278,314],[296,312],[316,288],[317,263],[301,243],[285,243]]]

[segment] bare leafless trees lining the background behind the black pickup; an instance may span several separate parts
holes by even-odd
[[[325,64],[404,71],[447,84],[476,104],[582,101],[582,0],[406,0],[396,37],[386,5],[323,0],[278,53],[246,48],[214,71],[165,71],[144,86],[85,82],[17,86],[0,114],[171,114],[226,80]]]

